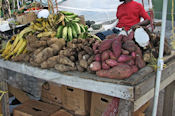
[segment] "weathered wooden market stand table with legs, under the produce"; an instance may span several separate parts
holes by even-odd
[[[164,61],[167,67],[162,72],[161,88],[165,90],[165,106],[173,104],[174,85],[175,80],[175,60],[173,52],[170,56],[165,57]],[[16,63],[11,61],[4,61],[0,59],[1,67],[1,90],[8,90],[7,83],[9,83],[5,76],[7,70],[36,77],[44,81],[50,81],[61,85],[80,88],[91,92],[97,92],[113,97],[121,98],[119,104],[119,116],[131,116],[132,112],[137,111],[142,105],[149,101],[154,95],[154,83],[156,73],[151,67],[144,67],[130,78],[125,80],[116,80],[108,78],[99,78],[94,74],[80,73],[80,72],[66,72],[59,73],[55,70],[45,70],[37,67],[32,67],[24,63]],[[14,77],[15,78],[15,77]],[[8,108],[8,94],[2,99],[4,115],[9,115]],[[172,112],[172,107],[164,107],[164,112]],[[172,115],[172,113],[170,113]],[[170,115],[168,115],[170,116]]]

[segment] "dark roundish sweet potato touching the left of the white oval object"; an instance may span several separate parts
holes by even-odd
[[[136,44],[132,40],[128,40],[124,42],[122,46],[125,50],[128,50],[129,52],[134,52],[136,50]]]

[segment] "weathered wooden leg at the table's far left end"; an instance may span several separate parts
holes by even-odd
[[[0,82],[0,90],[8,91],[8,86],[7,86],[7,83],[5,81]],[[8,93],[4,94],[1,103],[2,103],[3,116],[10,116]]]

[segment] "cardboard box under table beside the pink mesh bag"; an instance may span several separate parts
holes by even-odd
[[[111,96],[92,93],[90,116],[102,116],[102,114],[108,109],[108,106],[110,105],[112,100],[113,97]]]

